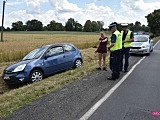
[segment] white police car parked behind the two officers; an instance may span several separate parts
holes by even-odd
[[[130,53],[150,55],[153,51],[153,40],[149,35],[135,35]]]

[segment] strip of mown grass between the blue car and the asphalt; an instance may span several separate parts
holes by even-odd
[[[80,79],[94,70],[95,61],[92,61],[90,64],[84,65],[81,68],[56,74],[52,77],[44,79],[43,81],[29,84],[5,93],[0,97],[0,116],[7,116],[21,106],[55,91],[74,80]]]

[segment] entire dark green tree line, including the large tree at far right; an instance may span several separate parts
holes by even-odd
[[[142,25],[139,21],[129,24],[129,29],[132,31],[144,31],[151,32],[154,35],[160,35],[160,9],[154,10],[154,12],[145,16],[148,22],[148,26]],[[41,21],[36,19],[28,20],[25,24],[22,21],[12,23],[12,28],[4,28],[5,31],[84,31],[84,32],[96,32],[100,30],[107,30],[103,28],[103,21],[91,21],[87,20],[84,25],[75,21],[74,18],[69,18],[63,26],[62,23],[52,20],[48,25],[43,26]],[[120,23],[118,23],[118,29],[121,29]]]

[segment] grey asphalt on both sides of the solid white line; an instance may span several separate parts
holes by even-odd
[[[89,117],[90,120],[143,120],[150,111],[160,111],[160,43],[125,82]],[[131,56],[130,67],[142,56]],[[109,68],[108,68],[109,69]],[[5,120],[79,120],[121,78],[107,80],[108,71],[95,71],[62,89],[14,111]],[[138,116],[137,116],[138,114]],[[156,117],[154,117],[156,118]],[[147,120],[147,119],[144,119]],[[149,119],[152,120],[152,119]]]

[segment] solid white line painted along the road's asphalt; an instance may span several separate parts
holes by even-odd
[[[159,40],[160,41],[160,40]],[[154,45],[159,43],[159,41]],[[126,78],[133,72],[133,70],[145,59],[143,57],[140,59],[130,70],[129,72],[115,85],[113,86],[96,104],[94,104],[79,120],[87,120],[91,115],[101,106],[101,104],[106,101],[112,93],[126,80]]]

